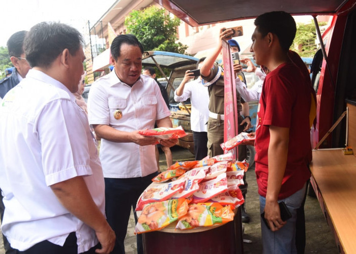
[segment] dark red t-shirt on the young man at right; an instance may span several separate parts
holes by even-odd
[[[288,157],[278,199],[301,189],[310,177],[310,87],[294,63],[283,63],[269,73],[257,109],[256,177],[259,195],[265,197],[268,181],[269,126],[289,128]]]

